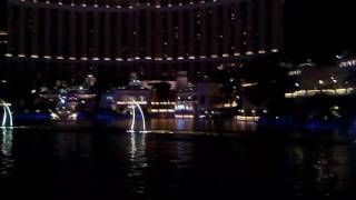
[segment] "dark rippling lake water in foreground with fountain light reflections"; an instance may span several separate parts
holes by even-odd
[[[0,131],[1,200],[356,198],[356,143],[330,134]]]

